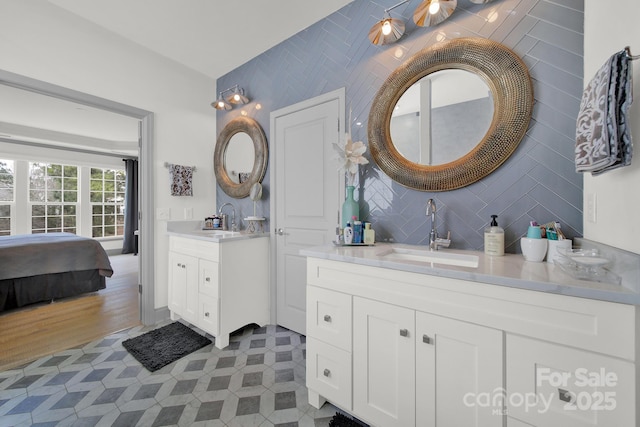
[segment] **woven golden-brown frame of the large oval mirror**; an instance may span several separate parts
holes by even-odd
[[[491,124],[477,145],[462,157],[437,165],[413,162],[400,154],[391,138],[394,109],[414,83],[449,69],[465,70],[484,80],[493,101]],[[531,78],[515,53],[488,39],[454,39],[423,49],[387,78],[369,113],[369,148],[378,166],[406,187],[454,190],[484,178],[509,158],[527,131],[532,110]]]

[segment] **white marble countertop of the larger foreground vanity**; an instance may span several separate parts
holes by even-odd
[[[584,246],[584,244],[583,244]],[[478,267],[460,267],[424,261],[393,260],[381,256],[391,247],[421,249],[424,246],[376,243],[375,246],[315,246],[302,249],[307,257],[351,262],[371,267],[390,268],[431,276],[449,277],[472,282],[590,298],[623,304],[640,305],[640,267],[634,254],[618,256],[610,267],[621,277],[622,283],[603,283],[575,279],[559,265],[547,262],[525,261],[522,255],[506,254],[492,257],[484,252],[441,249],[439,252],[476,255]],[[611,257],[615,255],[611,254]]]

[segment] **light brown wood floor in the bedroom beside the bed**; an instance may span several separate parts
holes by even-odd
[[[110,257],[98,292],[0,314],[0,371],[140,324],[138,257]]]

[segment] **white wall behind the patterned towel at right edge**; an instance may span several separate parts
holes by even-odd
[[[606,3],[606,4],[605,4]],[[614,52],[625,46],[640,55],[640,2],[585,1],[584,84]],[[640,60],[633,62],[633,92],[640,97]],[[631,166],[584,176],[584,237],[640,253],[640,99],[630,112],[635,153]],[[589,198],[596,198],[596,222],[589,218]]]

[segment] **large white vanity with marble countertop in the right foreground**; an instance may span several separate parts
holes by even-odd
[[[311,405],[384,427],[637,425],[637,290],[519,255],[302,253]]]

